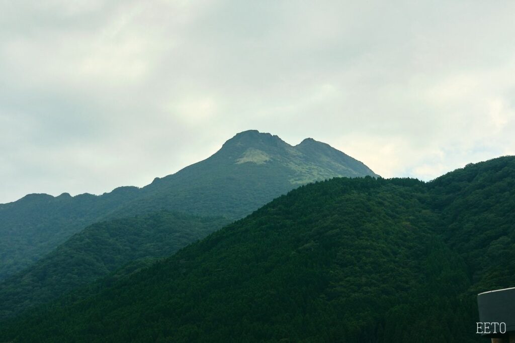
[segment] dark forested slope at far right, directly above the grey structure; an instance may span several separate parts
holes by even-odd
[[[470,164],[427,187],[445,242],[467,262],[470,294],[515,286],[515,157]]]

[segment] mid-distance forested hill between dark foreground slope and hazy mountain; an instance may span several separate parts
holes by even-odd
[[[93,224],[0,283],[0,318],[55,299],[135,260],[162,258],[228,224],[158,212]]]

